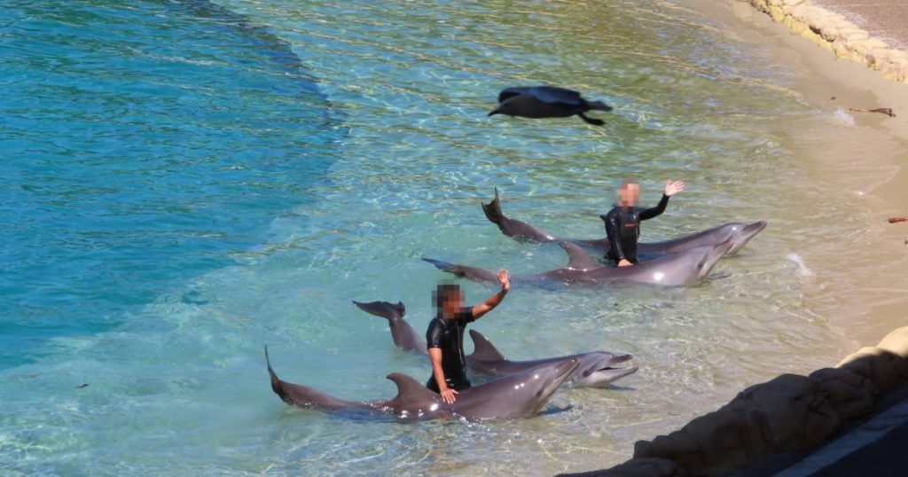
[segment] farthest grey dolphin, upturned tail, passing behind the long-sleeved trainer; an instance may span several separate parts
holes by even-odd
[[[511,219],[501,211],[501,201],[498,198],[498,187],[495,188],[495,199],[489,204],[482,204],[482,212],[493,224],[498,225],[498,230],[502,234],[513,237],[521,242],[537,243],[577,243],[577,245],[601,250],[608,250],[608,239],[568,239],[558,237],[538,228],[535,225],[527,224],[515,219]],[[711,229],[696,234],[678,237],[672,240],[653,243],[637,243],[637,252],[653,255],[663,255],[668,253],[681,253],[700,245],[712,245],[722,243],[726,240],[733,240],[732,248],[726,254],[737,253],[745,246],[750,239],[754,238],[766,228],[765,221],[755,222],[753,224],[741,224],[732,222],[719,225]]]

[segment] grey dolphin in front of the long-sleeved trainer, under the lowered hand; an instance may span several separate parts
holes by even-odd
[[[568,252],[569,262],[566,266],[544,273],[518,275],[511,277],[511,283],[649,283],[664,286],[691,286],[703,280],[716,265],[716,262],[734,246],[728,239],[714,245],[700,245],[686,252],[665,255],[649,262],[637,263],[627,267],[612,267],[599,263],[589,256],[576,243],[562,242],[561,248]],[[439,270],[475,282],[493,282],[498,272],[488,268],[471,267],[441,262],[423,257]]]

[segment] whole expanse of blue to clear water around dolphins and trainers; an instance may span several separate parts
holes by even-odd
[[[581,471],[841,354],[785,255],[844,212],[835,233],[864,234],[794,137],[845,125],[676,3],[13,2],[0,25],[4,472]],[[537,83],[616,111],[601,128],[485,116]],[[647,240],[770,227],[691,289],[516,288],[475,327],[514,359],[633,353],[636,375],[519,422],[349,420],[271,393],[264,343],[283,378],[345,399],[424,379],[350,300],[402,300],[422,330],[442,275],[421,256],[566,260],[502,237],[479,209],[493,187],[511,216],[598,236],[627,176],[645,202],[688,184]]]

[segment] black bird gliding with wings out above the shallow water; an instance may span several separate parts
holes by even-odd
[[[601,119],[588,117],[587,111],[611,111],[601,101],[587,101],[574,90],[556,86],[514,86],[498,94],[498,107],[489,113],[529,118],[568,117],[577,114],[587,124],[601,126]]]

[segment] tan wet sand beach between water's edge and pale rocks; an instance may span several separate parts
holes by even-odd
[[[838,59],[747,2],[693,5],[729,25],[727,35],[769,45],[777,61],[807,70],[813,81],[799,88],[804,98],[854,121],[848,137],[831,138],[822,131],[804,131],[800,137],[804,160],[818,176],[841,185],[829,191],[831,199],[861,197],[872,224],[860,237],[830,236],[824,253],[804,257],[817,282],[805,299],[852,340],[849,348],[875,343],[905,324],[908,309],[908,224],[887,222],[908,215],[908,84]],[[851,111],[882,107],[891,108],[895,117]]]

